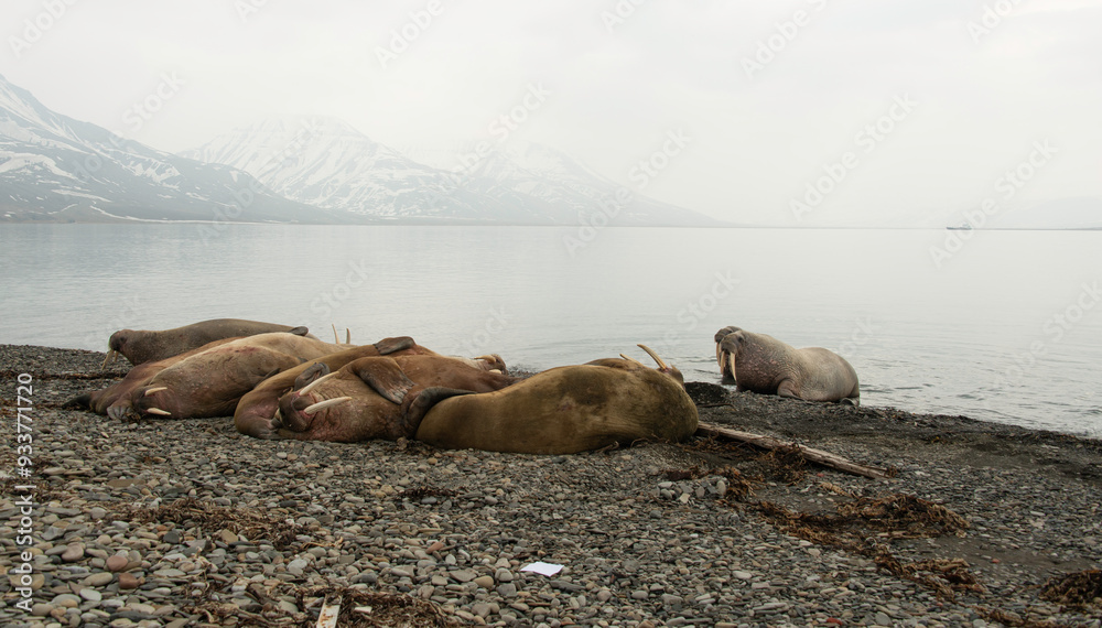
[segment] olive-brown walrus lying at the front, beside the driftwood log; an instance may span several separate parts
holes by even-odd
[[[419,421],[418,441],[450,450],[573,454],[683,441],[696,431],[696,405],[681,373],[651,355],[658,369],[609,358],[545,370],[496,392],[425,390],[408,421]]]

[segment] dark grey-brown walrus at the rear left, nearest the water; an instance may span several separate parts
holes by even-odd
[[[241,338],[271,332],[284,332],[317,339],[315,336],[307,334],[305,327],[245,321],[242,318],[215,318],[160,332],[119,329],[111,334],[110,339],[107,342],[109,350],[107,351],[107,358],[104,360],[104,366],[106,367],[119,354],[130,360],[130,364],[138,366],[144,362],[171,358],[172,356],[196,349],[214,340]]]

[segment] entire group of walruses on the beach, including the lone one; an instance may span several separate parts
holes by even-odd
[[[680,442],[698,426],[681,372],[639,345],[650,368],[620,354],[508,375],[494,355],[443,356],[408,336],[370,345],[324,342],[305,327],[236,318],[111,335],[104,361],[133,367],[72,402],[112,419],[233,414],[258,438],[361,442],[409,438],[442,448],[569,454],[639,441]],[[858,401],[840,356],[764,334],[715,335],[724,382],[808,401]]]

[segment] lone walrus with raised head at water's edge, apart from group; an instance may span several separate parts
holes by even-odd
[[[804,401],[858,405],[857,372],[845,358],[822,347],[797,349],[773,336],[738,327],[715,333],[715,359],[735,390]]]

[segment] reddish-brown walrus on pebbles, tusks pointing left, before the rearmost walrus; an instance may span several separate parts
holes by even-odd
[[[106,403],[112,419],[129,411],[175,419],[225,416],[266,378],[344,348],[284,332],[215,340],[183,356],[139,365],[119,385],[74,401],[97,412]]]

